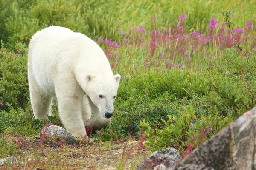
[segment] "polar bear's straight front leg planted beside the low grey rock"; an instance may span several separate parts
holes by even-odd
[[[61,122],[72,136],[83,138],[87,136],[81,114],[81,103],[84,93],[76,84],[68,86],[70,82],[62,81],[62,83],[65,84],[62,84],[61,88],[56,88]]]

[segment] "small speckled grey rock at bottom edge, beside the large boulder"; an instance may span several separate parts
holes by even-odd
[[[181,154],[176,149],[168,147],[152,153],[140,164],[137,170],[162,170],[166,167],[171,167],[173,164],[179,162],[180,159]]]

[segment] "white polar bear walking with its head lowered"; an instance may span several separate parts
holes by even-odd
[[[84,34],[60,26],[35,33],[28,80],[35,119],[51,116],[56,96],[61,122],[72,136],[87,136],[85,126],[111,123],[120,75],[113,75],[102,49]]]

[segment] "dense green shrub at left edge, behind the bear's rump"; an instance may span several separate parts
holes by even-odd
[[[20,43],[14,50],[6,49],[3,42],[0,48],[0,101],[15,108],[24,108],[29,97],[26,50]]]

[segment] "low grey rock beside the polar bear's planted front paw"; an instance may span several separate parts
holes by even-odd
[[[56,125],[45,126],[44,129],[41,131],[40,136],[47,135],[49,137],[63,137],[66,140],[76,140],[73,136],[67,133],[67,130]]]

